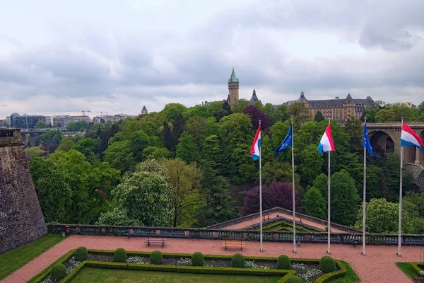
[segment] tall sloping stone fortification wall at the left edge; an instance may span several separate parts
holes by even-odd
[[[0,255],[47,234],[18,129],[0,129]]]

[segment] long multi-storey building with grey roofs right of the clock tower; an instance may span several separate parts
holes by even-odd
[[[307,108],[310,109],[312,119],[318,111],[322,112],[325,119],[336,119],[341,122],[346,122],[349,117],[361,119],[365,112],[365,108],[374,106],[374,100],[371,96],[365,99],[353,99],[351,93],[348,93],[346,98],[325,99],[325,100],[307,100],[303,91],[300,93],[298,100],[291,100],[285,103],[290,106],[295,102],[306,103]]]

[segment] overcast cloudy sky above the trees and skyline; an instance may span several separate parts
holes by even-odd
[[[360,3],[360,4],[358,4]],[[424,1],[0,0],[0,120],[228,95],[424,100]],[[95,112],[98,111],[98,112]]]

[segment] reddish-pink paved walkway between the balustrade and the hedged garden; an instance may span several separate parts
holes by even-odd
[[[148,247],[144,243],[145,238],[126,238],[119,236],[81,236],[73,235],[61,241],[53,248],[47,250],[39,257],[28,262],[13,274],[1,281],[6,282],[26,282],[39,272],[44,270],[52,262],[59,259],[64,253],[79,246],[86,248],[115,250],[124,248],[126,250],[152,251],[161,250],[163,253],[194,253],[204,254],[232,255],[237,250],[224,250],[221,241],[217,240],[192,240],[168,238],[165,248],[160,246]],[[246,242],[246,248],[243,249],[243,255],[252,256],[271,256],[286,254],[292,258],[321,258],[326,255],[326,244],[302,244],[298,247],[295,255],[293,246],[290,243],[264,243],[264,252],[259,251],[259,242]],[[396,255],[397,246],[369,246],[367,255],[361,255],[362,246],[331,245],[331,256],[338,260],[349,262],[353,269],[358,273],[362,282],[411,282],[411,280],[401,272],[395,262],[411,262],[420,260],[420,247],[405,246],[402,248],[402,257]]]

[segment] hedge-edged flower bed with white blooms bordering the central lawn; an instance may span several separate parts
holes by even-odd
[[[60,282],[70,282],[85,266],[103,267],[114,269],[157,270],[172,272],[191,272],[205,274],[228,275],[280,275],[283,278],[278,283],[283,283],[291,275],[298,275],[303,282],[328,282],[336,277],[342,277],[346,268],[341,262],[336,261],[338,270],[324,274],[319,270],[319,260],[292,259],[292,270],[278,270],[276,258],[246,257],[245,268],[232,268],[231,257],[225,255],[205,255],[204,267],[192,267],[191,255],[188,254],[163,254],[162,265],[151,265],[150,254],[143,252],[128,252],[125,262],[113,262],[113,251],[88,250],[88,260],[79,262],[73,257],[73,251],[67,253],[57,262],[66,266],[66,278]],[[52,265],[30,280],[37,283],[56,283],[50,279],[49,271]]]

